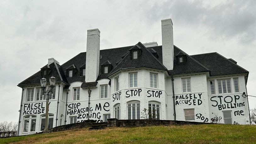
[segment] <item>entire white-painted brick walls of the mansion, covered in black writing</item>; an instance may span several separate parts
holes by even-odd
[[[137,87],[129,87],[129,73],[137,73]],[[155,73],[158,75],[158,86],[157,88],[150,87],[150,73]],[[115,78],[119,77],[120,87],[119,91],[115,91]],[[191,92],[183,92],[182,91],[182,78],[190,78],[191,79]],[[239,92],[234,92],[234,82],[233,78],[238,78],[239,83]],[[230,79],[231,80],[231,93],[219,94],[218,93],[218,85],[217,80],[222,79]],[[210,89],[210,80],[215,81],[215,92],[216,94],[211,94]],[[127,102],[131,101],[140,101],[140,113],[144,108],[148,109],[148,103],[158,102],[160,104],[160,119],[174,120],[174,105],[173,105],[173,92],[172,92],[172,80],[170,77],[166,77],[163,72],[160,71],[152,71],[149,69],[136,69],[136,70],[127,70],[123,71],[119,74],[116,74],[111,79],[111,86],[108,85],[108,79],[99,80],[97,83],[97,88],[91,89],[91,97],[90,97],[90,119],[97,120],[97,122],[103,121],[103,114],[110,114],[111,118],[114,118],[114,106],[116,104],[120,104],[120,119],[128,119],[127,115]],[[73,89],[79,88],[81,86],[81,82],[74,82],[70,84],[69,89],[64,90],[64,86],[60,85],[60,95],[59,95],[59,109],[58,109],[58,120],[57,126],[60,125],[60,119],[62,119],[62,125],[70,124],[70,116],[76,116],[77,122],[81,122],[83,120],[87,120],[88,114],[88,89],[80,88],[80,100],[73,100]],[[100,98],[100,86],[108,85],[108,98]],[[36,87],[25,87],[22,101],[22,109],[21,109],[21,117],[20,117],[20,126],[19,126],[19,135],[32,134],[35,132],[40,132],[41,126],[41,116],[45,114],[45,105],[46,100],[35,101],[36,98]],[[27,89],[34,88],[34,101],[27,102]],[[134,96],[131,96],[131,91],[139,90],[140,96],[138,96],[138,92]],[[152,91],[161,91],[160,97],[153,97]],[[68,95],[67,95],[68,92]],[[121,92],[121,94],[120,94]],[[216,117],[218,117],[217,123],[224,123],[223,119],[223,111],[231,111],[232,112],[232,123],[233,124],[250,124],[249,123],[249,111],[248,111],[248,103],[247,97],[242,97],[242,93],[246,92],[245,80],[244,76],[226,76],[226,77],[207,77],[207,74],[198,74],[198,75],[182,75],[174,77],[174,93],[175,93],[175,111],[176,111],[176,120],[185,120],[184,109],[194,108],[195,120],[197,122],[216,122]],[[119,93],[120,96],[117,97]],[[129,96],[130,94],[130,96]],[[151,97],[150,97],[151,94]],[[155,94],[155,93],[154,93]],[[191,94],[191,97],[190,97]],[[195,94],[195,97],[194,97]],[[198,95],[200,94],[200,96]],[[183,95],[183,97],[182,97]],[[187,95],[187,98],[186,98]],[[159,96],[159,95],[158,95]],[[240,105],[236,108],[225,108],[219,109],[218,105],[220,104],[220,98],[222,104],[230,104],[228,102],[231,101],[231,97],[233,98],[233,102],[235,103],[234,98],[236,97],[236,103],[244,103],[244,105]],[[227,97],[228,96],[228,97]],[[225,101],[224,98],[226,97]],[[239,97],[239,98],[238,98]],[[67,98],[67,110],[66,110],[66,98]],[[200,101],[198,101],[198,99]],[[55,127],[56,123],[56,114],[57,114],[57,100],[58,100],[58,85],[56,85],[56,93],[55,99],[49,100],[49,114],[54,114],[53,119],[53,127]],[[183,100],[191,100],[191,105],[182,103]],[[177,103],[178,102],[178,103]],[[199,102],[199,103],[198,103]],[[218,105],[215,106],[218,102]],[[36,115],[36,131],[35,132],[23,132],[24,127],[24,116],[29,114],[24,113],[28,108],[28,104],[35,105],[36,103],[40,103],[44,112]],[[72,105],[77,105],[79,103],[78,108],[72,107]],[[194,105],[195,104],[195,105]],[[199,104],[199,105],[198,105]],[[34,106],[32,108],[35,108]],[[43,109],[42,107],[40,109]],[[80,112],[78,113],[78,109]],[[83,110],[84,109],[84,110]],[[87,110],[86,110],[87,109]],[[28,108],[31,110],[31,108]],[[71,111],[75,112],[71,114]],[[239,111],[239,113],[238,113]],[[236,113],[236,115],[235,115]],[[92,115],[91,115],[92,114]],[[239,115],[240,114],[240,115]],[[63,115],[61,118],[60,116]],[[140,114],[140,117],[142,114]],[[201,116],[201,117],[200,117]],[[203,118],[202,118],[203,117]],[[66,123],[65,123],[66,118]],[[248,120],[248,121],[247,121]],[[31,125],[31,124],[30,124]],[[29,129],[30,129],[29,125]]]

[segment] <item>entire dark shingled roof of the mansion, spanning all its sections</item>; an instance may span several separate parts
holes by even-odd
[[[131,48],[136,48],[135,46],[139,50],[141,50],[141,55],[138,56],[137,59],[131,59],[129,50]],[[121,69],[146,67],[152,69],[167,70],[162,64],[162,46],[146,48],[141,42],[137,43],[135,46],[100,50],[100,68],[97,80],[109,79],[109,75],[112,75]],[[155,58],[155,56],[152,54],[155,52],[157,53],[159,58]],[[183,64],[177,63],[177,55],[186,55],[186,62]],[[83,83],[81,87],[95,86],[95,84],[97,84],[96,82],[86,83],[85,76],[81,76],[81,70],[82,67],[85,67],[85,64],[86,52],[79,53],[74,58],[71,58],[69,61],[62,64],[61,66],[57,63],[43,66],[43,68],[51,69],[51,72],[49,73],[49,75],[45,76],[45,78],[49,79],[53,75],[54,77],[56,77],[57,82],[62,81],[68,85],[73,82],[79,81]],[[108,74],[102,74],[101,65],[104,64],[111,64],[113,67],[112,71]],[[73,74],[73,77],[66,77],[67,69],[73,65],[77,69],[77,72]],[[235,64],[234,60],[232,61],[231,59],[224,58],[218,53],[205,53],[189,56],[181,49],[174,46],[174,66],[173,70],[169,70],[169,74],[182,75],[200,72],[209,72],[210,76],[248,73],[247,70]],[[42,77],[43,76],[41,71],[38,71],[36,74],[19,83],[18,86],[40,84],[40,79]],[[68,86],[66,86],[65,88],[68,88]]]

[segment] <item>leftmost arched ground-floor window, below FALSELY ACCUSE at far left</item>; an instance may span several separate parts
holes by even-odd
[[[36,115],[24,116],[23,132],[36,131]]]

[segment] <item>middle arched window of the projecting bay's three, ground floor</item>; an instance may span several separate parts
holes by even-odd
[[[140,119],[140,101],[127,102],[128,119]]]

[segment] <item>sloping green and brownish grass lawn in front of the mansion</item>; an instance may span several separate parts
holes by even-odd
[[[0,143],[256,143],[256,125],[88,128],[1,138]]]

